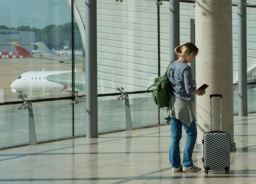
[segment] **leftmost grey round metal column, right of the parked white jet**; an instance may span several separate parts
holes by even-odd
[[[98,137],[96,0],[85,0],[85,82],[87,137]]]

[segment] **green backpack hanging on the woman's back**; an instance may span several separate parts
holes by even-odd
[[[169,63],[172,64],[173,61]],[[151,85],[148,90],[153,87],[152,98],[156,105],[158,105],[159,108],[168,107],[169,106],[169,99],[171,98],[171,85],[169,83],[168,78],[168,72],[169,72],[169,65],[164,73],[164,75],[161,75],[160,77],[156,77],[154,79],[153,85]],[[147,91],[148,91],[147,90]]]

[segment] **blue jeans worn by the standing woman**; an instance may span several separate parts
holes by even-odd
[[[181,140],[182,125],[187,133],[186,143],[183,152],[183,167],[193,165],[192,154],[197,140],[197,125],[195,120],[188,126],[178,119],[172,118],[171,124],[171,143],[169,147],[169,160],[173,168],[181,167],[181,156],[179,152],[179,140]]]

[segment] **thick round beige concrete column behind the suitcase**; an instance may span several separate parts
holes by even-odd
[[[207,83],[207,93],[197,98],[197,143],[210,131],[210,94],[223,95],[223,131],[234,143],[233,60],[231,0],[197,0],[195,3],[197,86]],[[220,100],[213,98],[213,130],[220,130]],[[234,144],[232,145],[234,149]],[[231,147],[232,147],[231,146]]]

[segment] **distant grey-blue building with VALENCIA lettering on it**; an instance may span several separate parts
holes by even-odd
[[[0,52],[16,52],[11,43],[19,42],[28,51],[33,50],[35,33],[31,31],[0,30]]]

